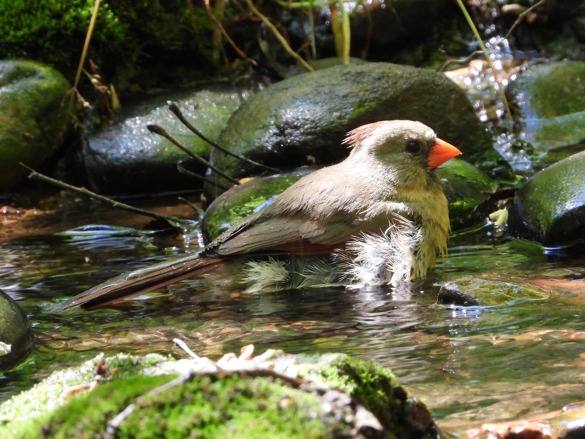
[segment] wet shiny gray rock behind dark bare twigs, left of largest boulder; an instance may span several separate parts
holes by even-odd
[[[95,191],[147,193],[201,186],[201,181],[180,174],[177,163],[183,160],[185,168],[198,174],[205,173],[205,166],[147,129],[148,124],[159,125],[191,152],[209,158],[211,146],[177,119],[167,101],[176,101],[185,118],[215,140],[240,105],[241,96],[232,85],[218,83],[125,105],[118,118],[85,140],[80,153],[85,177]]]

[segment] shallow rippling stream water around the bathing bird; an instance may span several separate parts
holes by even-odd
[[[67,221],[53,221],[52,228],[62,231],[87,224],[88,218],[125,222],[124,214],[118,221],[107,208],[91,209],[68,210]],[[493,238],[487,228],[452,238],[449,256],[412,292],[332,288],[253,296],[209,290],[192,280],[169,287],[171,295],[161,291],[160,297],[133,301],[123,310],[61,315],[47,312],[54,300],[198,246],[168,234],[66,240],[37,235],[38,230],[25,230],[0,246],[0,288],[26,310],[39,339],[35,352],[0,379],[0,400],[98,352],[182,357],[171,341],[176,337],[212,358],[252,343],[257,353],[280,348],[375,360],[392,368],[450,431],[583,399],[585,313],[579,294],[493,308],[436,304],[440,285],[458,275],[566,279],[585,271],[583,258],[545,255],[530,243]]]

